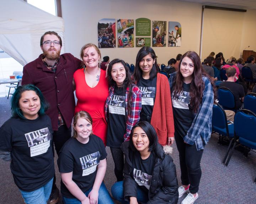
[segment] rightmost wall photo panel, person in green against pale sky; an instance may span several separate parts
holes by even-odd
[[[181,24],[175,21],[169,21],[168,46],[181,46]]]

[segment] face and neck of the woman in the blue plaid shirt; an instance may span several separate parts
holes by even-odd
[[[184,78],[183,81],[186,84],[189,84],[193,79],[193,72],[194,72],[194,63],[190,58],[188,57],[183,58],[180,65],[180,72]]]

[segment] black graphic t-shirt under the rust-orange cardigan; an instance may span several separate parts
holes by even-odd
[[[142,111],[140,120],[150,123],[156,96],[156,77],[153,79],[140,79],[137,86],[142,92]]]

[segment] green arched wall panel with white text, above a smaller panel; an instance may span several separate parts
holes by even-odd
[[[151,21],[148,18],[137,18],[135,20],[136,36],[150,36]]]

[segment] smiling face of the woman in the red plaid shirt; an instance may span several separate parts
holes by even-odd
[[[123,85],[123,82],[126,79],[126,70],[121,62],[113,64],[111,77],[116,81],[117,86]]]

